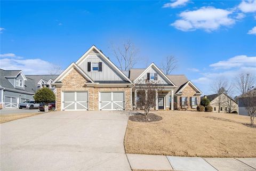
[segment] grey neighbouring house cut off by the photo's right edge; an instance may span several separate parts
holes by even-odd
[[[248,116],[246,105],[248,101],[248,94],[254,94],[256,98],[256,88],[250,90],[249,92],[238,96],[238,115]]]

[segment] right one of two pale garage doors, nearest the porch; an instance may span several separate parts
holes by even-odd
[[[100,110],[124,110],[124,92],[100,92]]]

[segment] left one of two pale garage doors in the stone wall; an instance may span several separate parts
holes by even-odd
[[[88,93],[63,92],[62,110],[88,110]]]

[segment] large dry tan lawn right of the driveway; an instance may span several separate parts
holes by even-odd
[[[163,120],[129,120],[126,153],[200,157],[256,157],[256,128],[250,118],[213,112],[154,112]]]

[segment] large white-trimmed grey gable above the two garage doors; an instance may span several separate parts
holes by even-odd
[[[91,62],[91,64],[92,62],[95,62],[95,64],[102,62],[102,71],[88,70],[88,62]],[[118,81],[131,83],[131,80],[94,45],[77,60],[76,64],[95,82],[102,83]]]

